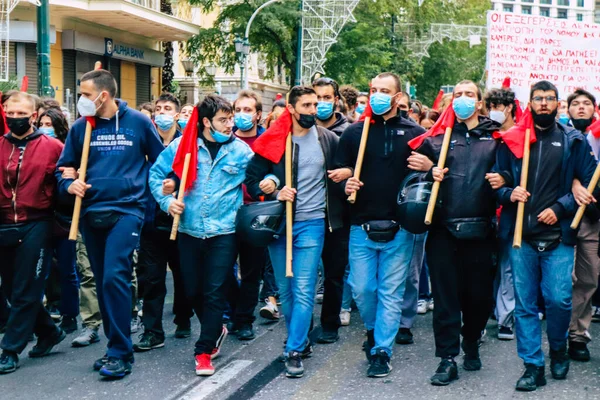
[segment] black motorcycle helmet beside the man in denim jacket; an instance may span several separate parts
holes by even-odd
[[[235,217],[238,237],[253,246],[266,247],[280,235],[285,204],[279,200],[244,204]]]

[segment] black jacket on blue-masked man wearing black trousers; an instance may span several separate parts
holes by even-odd
[[[500,124],[479,117],[479,125],[468,130],[456,121],[452,130],[450,148],[446,157],[448,173],[440,185],[442,206],[436,211],[436,221],[452,222],[455,219],[491,218],[496,211],[494,190],[485,179],[496,162],[496,149],[500,142],[492,137]],[[417,149],[435,164],[438,162],[444,135],[432,136]],[[427,174],[432,180],[431,171]]]

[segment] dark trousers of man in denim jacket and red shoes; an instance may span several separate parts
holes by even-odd
[[[237,255],[235,234],[199,239],[179,233],[181,275],[186,297],[200,320],[195,354],[210,354],[223,329],[228,275]]]

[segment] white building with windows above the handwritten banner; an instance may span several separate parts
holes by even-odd
[[[598,0],[492,0],[494,10],[594,22]]]

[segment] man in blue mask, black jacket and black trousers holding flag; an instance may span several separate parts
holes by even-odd
[[[498,142],[493,133],[500,124],[479,114],[483,101],[475,83],[459,82],[453,98],[456,120],[446,168],[433,167],[428,174],[443,180],[442,207],[434,215],[425,246],[435,301],[435,354],[441,358],[431,378],[436,386],[458,378],[454,357],[460,353],[461,334],[464,369],[481,369],[478,342],[492,311],[495,276],[496,202],[486,173],[496,160]],[[443,135],[430,136],[417,151],[437,163],[442,141]]]

